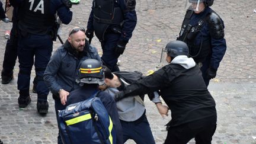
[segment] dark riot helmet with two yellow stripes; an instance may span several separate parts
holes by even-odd
[[[87,59],[81,63],[79,76],[76,79],[79,85],[98,84],[104,85],[104,69],[101,62],[96,59]]]

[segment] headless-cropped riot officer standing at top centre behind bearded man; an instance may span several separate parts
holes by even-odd
[[[94,0],[86,35],[101,42],[103,60],[111,71],[119,71],[117,59],[123,54],[137,23],[135,0]],[[90,41],[90,40],[89,40]]]

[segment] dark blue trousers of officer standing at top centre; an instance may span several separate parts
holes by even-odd
[[[115,53],[115,47],[119,38],[120,34],[105,33],[104,41],[101,42],[101,47],[103,49],[101,59],[105,66],[107,66],[112,72],[119,71],[117,60],[120,55]]]

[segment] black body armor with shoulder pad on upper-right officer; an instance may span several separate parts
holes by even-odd
[[[201,18],[196,25],[190,25],[190,18],[193,14],[188,10],[183,25],[181,27],[180,36],[177,40],[184,41],[189,47],[189,56],[193,57],[195,62],[203,62],[206,57],[212,53],[211,39],[203,37],[200,41],[195,41],[198,34],[201,33],[201,28],[204,27],[204,23],[209,25],[209,34],[213,39],[222,39],[224,37],[223,23],[219,15],[215,11],[210,11],[204,18]]]

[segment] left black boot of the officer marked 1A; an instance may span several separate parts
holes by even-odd
[[[25,108],[28,104],[30,104],[31,98],[29,95],[29,90],[20,90],[20,97],[18,97],[19,107]]]

